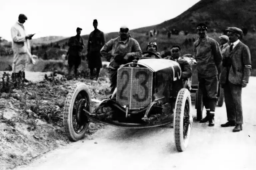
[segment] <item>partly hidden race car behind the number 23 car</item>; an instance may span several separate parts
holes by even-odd
[[[191,98],[192,101],[195,101],[195,107],[197,112],[197,120],[201,120],[203,117],[203,95],[202,91],[198,89],[198,77],[197,77],[197,68],[196,68],[196,60],[195,57],[191,54],[185,54],[182,56],[183,59],[187,60],[192,68],[192,77],[190,78],[190,84],[191,84]],[[221,88],[219,84],[218,88],[218,94],[217,94],[218,100],[217,100],[217,106],[221,107],[224,102],[224,89]]]

